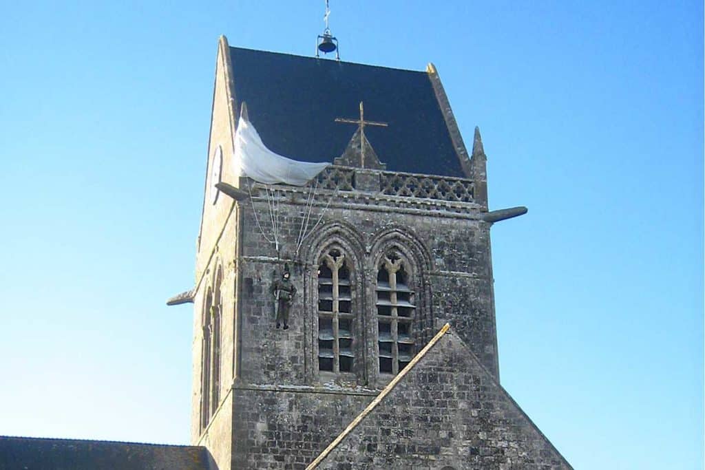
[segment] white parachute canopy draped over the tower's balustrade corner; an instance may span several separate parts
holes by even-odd
[[[331,163],[308,163],[275,154],[264,146],[255,126],[240,116],[235,131],[235,174],[266,185],[304,186]]]

